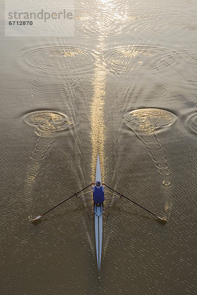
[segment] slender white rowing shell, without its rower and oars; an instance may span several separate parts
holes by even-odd
[[[101,182],[101,171],[100,171],[100,161],[99,155],[97,157],[97,168],[96,168],[96,178],[95,182],[99,180]],[[100,262],[102,254],[102,212],[103,212],[103,203],[100,207],[94,204],[95,211],[95,240],[96,240],[96,253],[97,253],[97,265],[98,271],[100,273]]]

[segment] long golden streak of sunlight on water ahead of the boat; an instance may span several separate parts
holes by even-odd
[[[95,56],[94,74],[92,80],[93,86],[93,98],[90,106],[91,112],[91,141],[92,141],[92,179],[94,181],[95,168],[97,163],[97,155],[99,154],[102,181],[104,181],[104,141],[105,141],[105,125],[104,125],[104,105],[105,105],[105,87],[106,87],[106,75],[107,66],[102,61],[102,53],[106,50],[105,34],[110,33],[114,26],[114,21],[120,22],[120,30],[124,27],[124,23],[128,22],[127,13],[110,13],[114,11],[114,0],[96,0],[99,10],[107,12],[103,18],[95,21],[96,31],[100,32],[98,37],[98,43],[96,44],[97,54]],[[133,17],[134,20],[136,17]],[[128,55],[135,57],[139,54],[138,51],[125,51],[121,52],[127,58]]]

